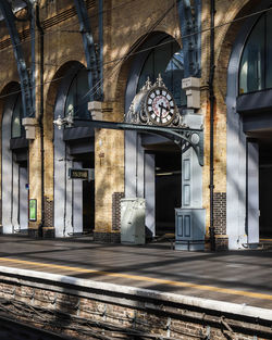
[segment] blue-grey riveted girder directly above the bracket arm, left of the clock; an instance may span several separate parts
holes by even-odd
[[[85,49],[87,68],[89,71],[88,83],[90,88],[89,99],[101,100],[102,91],[100,84],[99,53],[96,50],[94,37],[90,29],[88,12],[84,0],[74,0],[81,25],[83,43]]]

